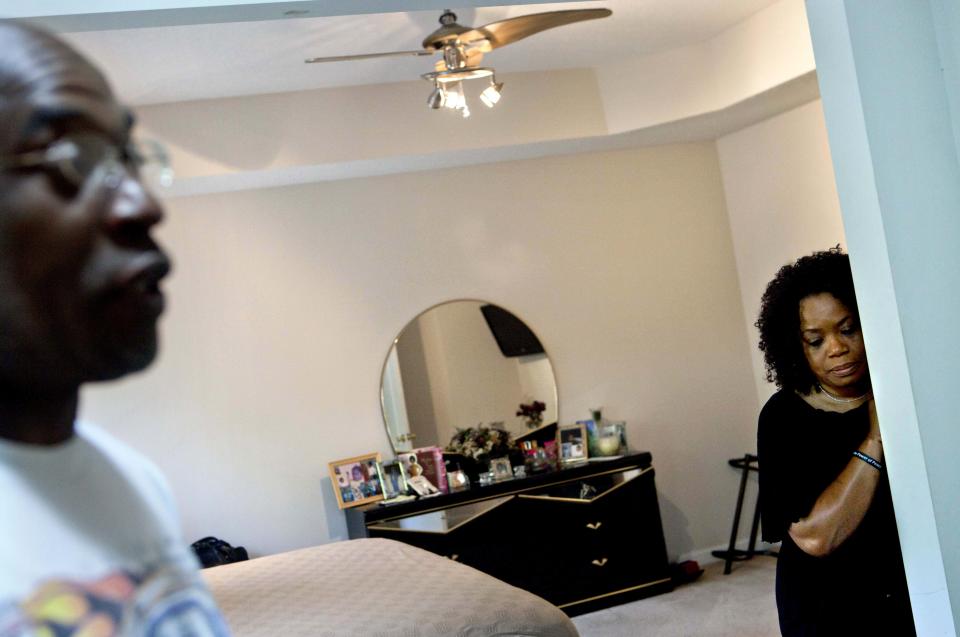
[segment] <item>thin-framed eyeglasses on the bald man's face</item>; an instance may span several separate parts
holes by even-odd
[[[111,165],[124,167],[151,186],[173,183],[166,150],[153,140],[131,140],[119,146],[103,135],[83,133],[67,135],[43,149],[0,157],[0,170],[44,168],[77,190],[101,166]]]

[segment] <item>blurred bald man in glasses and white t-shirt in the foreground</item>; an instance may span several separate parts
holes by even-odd
[[[0,50],[0,637],[226,635],[160,474],[76,422],[157,352],[133,118],[53,36],[0,22]]]

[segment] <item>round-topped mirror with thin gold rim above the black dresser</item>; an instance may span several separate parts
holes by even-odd
[[[394,340],[380,378],[395,453],[445,447],[457,429],[501,422],[516,438],[531,430],[521,404],[546,405],[557,422],[557,383],[540,340],[509,311],[450,301],[414,318]]]

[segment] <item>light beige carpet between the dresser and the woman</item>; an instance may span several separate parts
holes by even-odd
[[[757,556],[704,567],[695,582],[671,593],[573,618],[581,637],[776,637],[776,560]]]

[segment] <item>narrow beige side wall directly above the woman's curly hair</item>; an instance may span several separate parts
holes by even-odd
[[[777,269],[804,254],[845,245],[820,100],[717,140],[727,211],[760,404],[765,379],[753,326]]]

